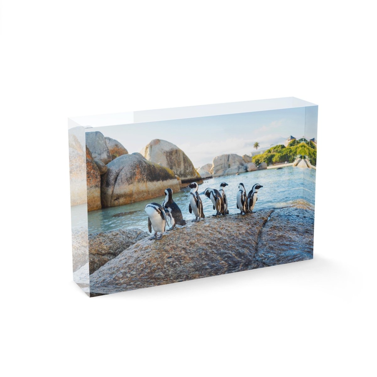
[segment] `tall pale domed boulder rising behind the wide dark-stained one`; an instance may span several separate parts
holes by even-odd
[[[193,181],[202,182],[201,176],[186,154],[169,141],[154,139],[140,153],[148,161],[173,170],[181,178],[182,184]]]

